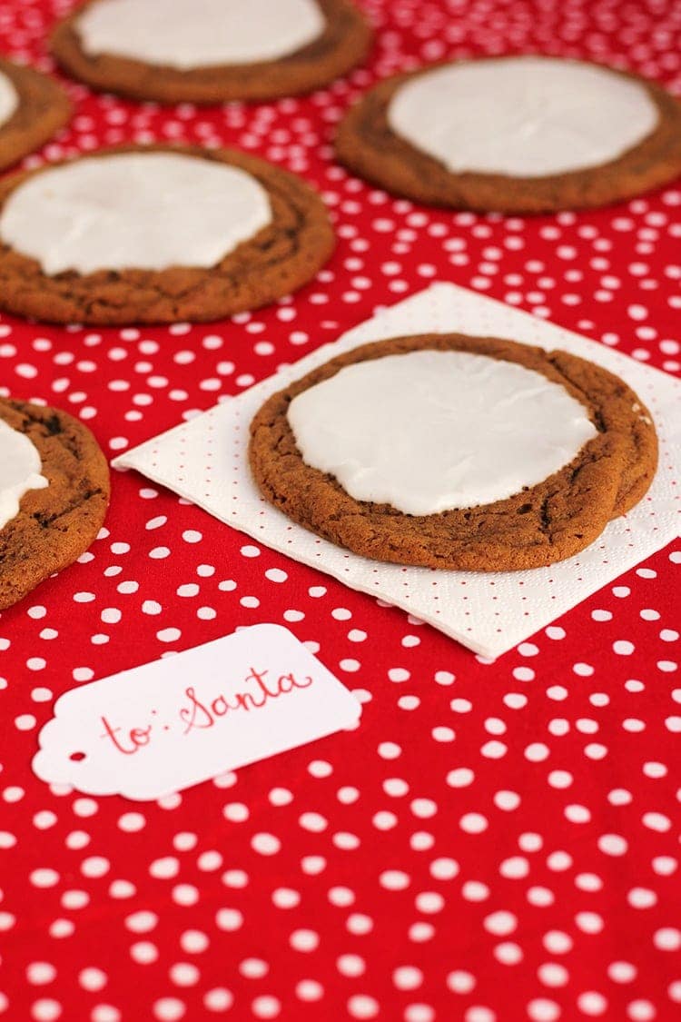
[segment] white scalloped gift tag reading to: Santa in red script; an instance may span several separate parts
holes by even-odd
[[[49,784],[144,801],[352,728],[360,713],[288,629],[255,624],[66,692],[33,769]]]

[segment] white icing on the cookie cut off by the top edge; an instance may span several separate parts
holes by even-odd
[[[276,60],[322,35],[315,0],[98,0],[78,18],[81,45],[191,71]]]

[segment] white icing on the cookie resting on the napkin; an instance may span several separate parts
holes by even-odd
[[[306,464],[414,515],[512,497],[596,435],[565,387],[467,352],[354,363],[294,398],[288,418]]]

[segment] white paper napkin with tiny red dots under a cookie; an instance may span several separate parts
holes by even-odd
[[[247,458],[248,427],[265,399],[341,352],[429,331],[563,349],[621,376],[648,406],[660,434],[660,468],[644,500],[570,560],[491,574],[367,560],[308,532],[266,504],[251,479]],[[259,543],[402,607],[476,653],[495,657],[679,535],[681,502],[675,481],[681,481],[680,409],[681,381],[555,324],[442,283],[380,312],[239,397],[127,452],[113,466],[136,468]]]

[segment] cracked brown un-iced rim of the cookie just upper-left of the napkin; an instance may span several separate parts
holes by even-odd
[[[155,145],[125,146],[80,158],[114,152],[178,152],[240,168],[267,192],[272,222],[208,269],[177,266],[50,276],[36,260],[0,243],[0,306],[7,312],[104,326],[208,322],[290,294],[311,280],[333,251],[335,236],[320,195],[301,178],[263,159],[233,149]],[[43,170],[47,168],[30,173]],[[15,174],[0,182],[0,210],[28,177]]]

